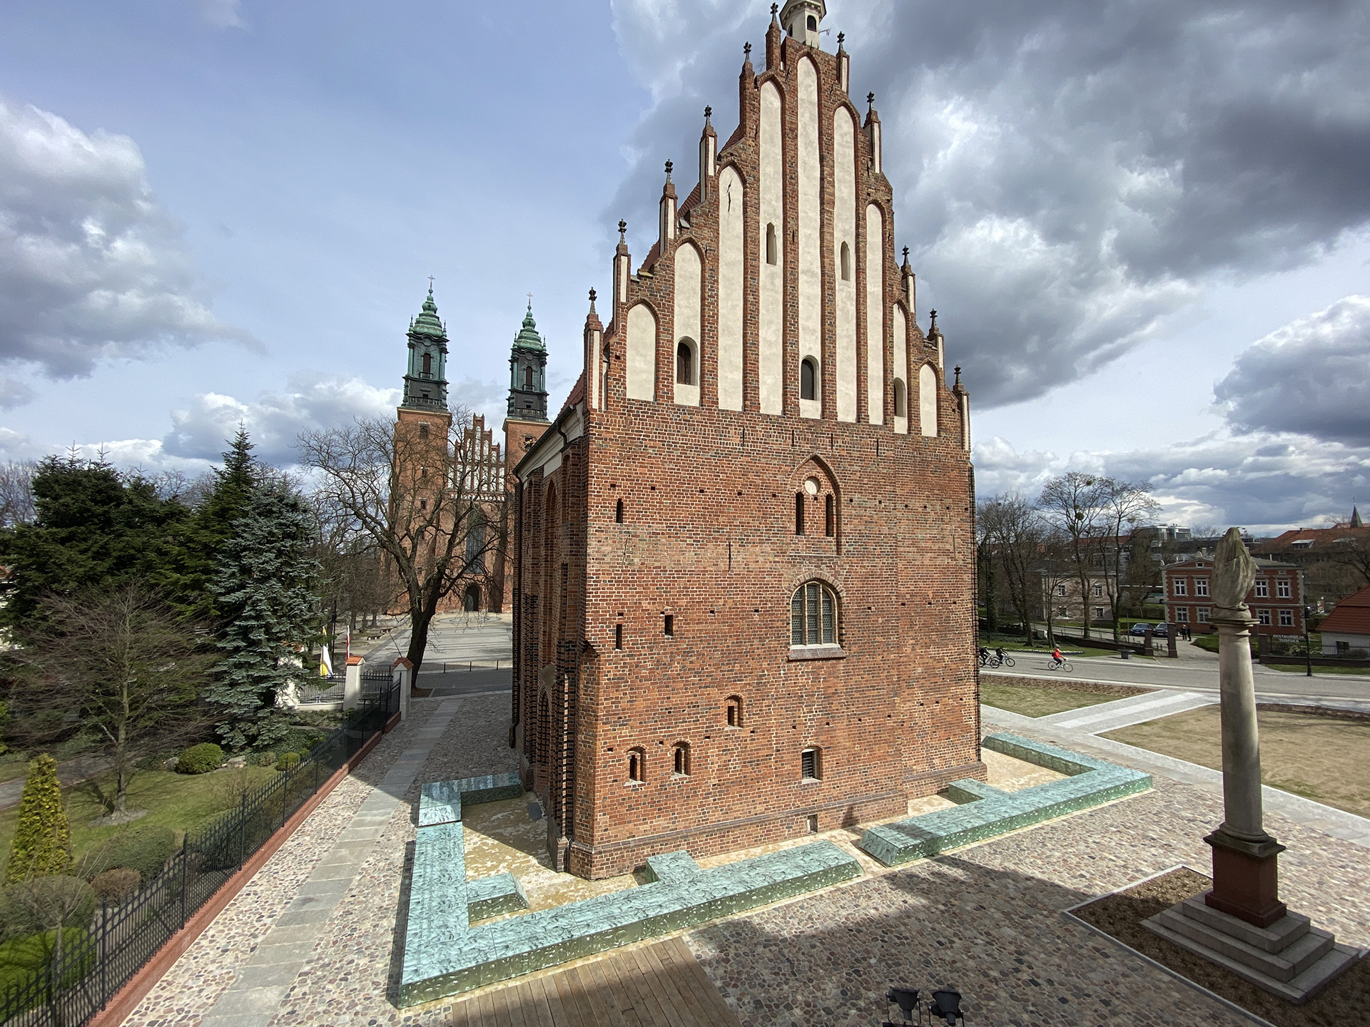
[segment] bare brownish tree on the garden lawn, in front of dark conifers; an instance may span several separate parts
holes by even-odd
[[[25,649],[10,653],[19,671],[18,733],[36,745],[75,727],[100,738],[115,782],[97,797],[126,812],[137,761],[174,748],[206,723],[196,698],[212,656],[169,605],[140,585],[84,596],[53,596]]]

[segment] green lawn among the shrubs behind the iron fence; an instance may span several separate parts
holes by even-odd
[[[3,764],[0,764],[3,765]],[[129,785],[129,809],[147,809],[147,816],[134,824],[162,824],[177,833],[199,827],[218,813],[238,804],[244,785],[260,785],[275,775],[271,767],[223,768],[211,774],[175,774],[171,771],[138,771]],[[97,779],[104,787],[108,778]],[[92,794],[88,783],[62,789],[67,801],[67,820],[71,824],[71,848],[77,861],[93,852],[119,827],[95,827],[90,820],[101,816],[104,808]],[[0,811],[0,860],[8,861],[19,807]]]

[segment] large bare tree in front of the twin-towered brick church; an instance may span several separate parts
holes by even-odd
[[[471,445],[469,411],[453,411],[445,434],[437,423],[359,419],[297,442],[316,508],[381,555],[408,615],[415,672],[441,601],[473,583],[488,593],[504,559],[504,531],[490,530],[503,524],[497,451]]]

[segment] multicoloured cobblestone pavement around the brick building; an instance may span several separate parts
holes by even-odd
[[[438,702],[416,700],[414,716],[359,768],[379,781],[414,728]],[[514,768],[507,748],[508,696],[470,696],[416,782]],[[407,737],[408,735],[408,737]],[[200,1023],[251,957],[369,793],[349,779],[259,872],[142,1002],[130,1024]],[[416,786],[407,798],[412,802]],[[273,1024],[437,1024],[449,1004],[399,1011],[395,942],[411,812],[397,808],[371,856],[336,906]],[[1201,842],[1221,819],[1210,787],[1156,779],[1156,789],[1007,835],[959,853],[871,874],[860,880],[708,924],[686,942],[744,1024],[878,1024],[891,986],[951,985],[973,1024],[1247,1024],[1219,1002],[1062,916],[1077,902],[1180,863],[1208,867]],[[1370,857],[1278,815],[1270,830],[1289,846],[1281,859],[1291,908],[1370,945]]]

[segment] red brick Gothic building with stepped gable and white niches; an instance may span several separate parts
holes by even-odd
[[[969,397],[895,256],[874,104],[773,8],[515,468],[512,726],[559,868],[907,813],[984,778]],[[749,47],[747,48],[749,51]]]

